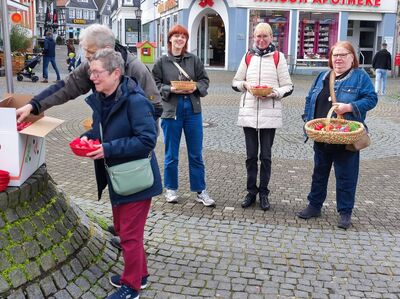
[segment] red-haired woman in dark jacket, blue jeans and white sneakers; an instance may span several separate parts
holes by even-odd
[[[165,142],[165,198],[170,203],[178,200],[179,145],[183,130],[189,157],[190,190],[196,192],[198,202],[214,206],[215,201],[206,191],[200,102],[200,97],[208,94],[210,80],[201,60],[187,52],[188,39],[185,27],[173,26],[168,32],[168,55],[159,58],[153,67],[153,76],[163,100],[161,128]],[[185,80],[196,82],[192,90],[171,86],[171,81]]]

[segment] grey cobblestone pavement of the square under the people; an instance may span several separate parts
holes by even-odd
[[[334,178],[322,217],[295,217],[307,204],[311,182],[312,142],[303,143],[300,115],[314,77],[293,76],[295,91],[284,100],[285,127],[277,131],[273,147],[271,210],[263,212],[258,206],[240,207],[246,194],[245,147],[235,124],[239,94],[230,87],[234,73],[209,74],[210,94],[203,99],[204,159],[207,189],[217,206],[195,202],[182,143],[179,203],[155,198],[147,222],[151,284],[141,297],[400,298],[398,79],[389,79],[388,96],[368,115],[373,143],[361,154],[353,226],[342,231],[336,228]],[[4,78],[0,83],[5,86]],[[36,93],[45,86],[15,82],[17,92]],[[68,148],[84,132],[89,108],[78,99],[46,113],[66,120],[46,139],[50,175],[82,209],[111,223],[107,196],[96,200],[92,162]],[[163,168],[162,137],[156,152]]]

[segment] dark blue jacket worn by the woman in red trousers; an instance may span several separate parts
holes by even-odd
[[[93,109],[93,128],[84,133],[90,139],[100,139],[100,121],[103,94],[93,93],[86,102]],[[95,161],[95,172],[99,199],[108,185],[111,204],[113,206],[141,201],[162,192],[160,170],[153,150],[157,142],[157,127],[154,120],[154,108],[145,97],[139,85],[129,77],[124,77],[119,85],[112,107],[103,127],[103,149],[108,166],[143,159],[152,154],[151,167],[154,184],[149,189],[129,196],[121,196],[112,189],[104,160]]]

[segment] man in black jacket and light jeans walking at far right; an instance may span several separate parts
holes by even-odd
[[[382,50],[378,51],[372,60],[375,69],[375,91],[377,94],[385,95],[387,71],[392,70],[392,56],[386,50],[386,42],[382,43]]]

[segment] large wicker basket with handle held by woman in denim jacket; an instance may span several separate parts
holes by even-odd
[[[327,118],[316,118],[306,122],[305,131],[308,137],[317,142],[330,143],[330,144],[352,144],[359,140],[364,134],[364,125],[358,121],[348,121],[343,118],[331,118],[335,106],[329,110]],[[356,123],[359,127],[357,130],[352,132],[342,132],[342,131],[320,131],[314,128],[317,125],[323,124],[328,126],[332,125],[347,125],[349,123]]]

